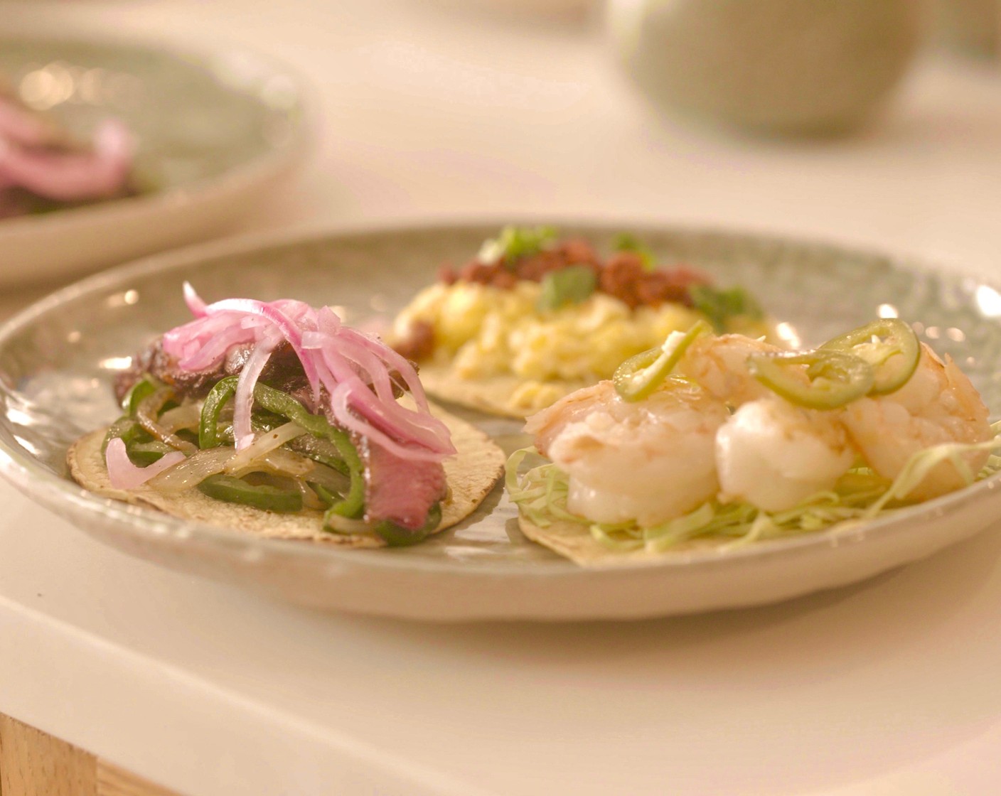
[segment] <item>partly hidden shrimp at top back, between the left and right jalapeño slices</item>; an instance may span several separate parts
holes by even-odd
[[[713,396],[739,407],[773,394],[751,375],[748,357],[782,350],[785,349],[743,334],[705,336],[692,343],[677,369],[699,382]]]

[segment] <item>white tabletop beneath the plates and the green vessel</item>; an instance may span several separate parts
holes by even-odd
[[[658,120],[585,26],[443,0],[0,2],[0,24],[23,18],[244,44],[307,76],[318,146],[243,231],[667,220],[1001,279],[1001,75],[988,66],[925,62],[865,135],[769,143]],[[6,290],[0,313],[49,287]],[[1001,528],[751,611],[426,626],[158,569],[6,483],[0,507],[0,711],[189,796],[1001,789]]]

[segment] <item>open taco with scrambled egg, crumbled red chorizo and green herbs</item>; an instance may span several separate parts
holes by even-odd
[[[625,358],[706,320],[720,332],[764,335],[761,307],[685,265],[658,266],[628,234],[603,257],[551,227],[507,227],[399,313],[390,342],[420,363],[428,391],[525,418],[610,378]]]

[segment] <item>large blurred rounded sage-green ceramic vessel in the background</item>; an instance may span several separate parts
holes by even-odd
[[[662,107],[770,134],[854,129],[885,104],[921,0],[609,0],[627,71]]]

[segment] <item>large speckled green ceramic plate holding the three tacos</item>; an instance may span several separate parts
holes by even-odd
[[[305,605],[434,620],[634,618],[766,603],[923,558],[982,530],[1001,509],[1001,482],[994,479],[850,531],[582,570],[521,535],[499,487],[466,522],[425,544],[343,551],[181,522],[94,497],[67,479],[70,443],[117,417],[114,372],[149,338],[188,318],[183,280],[209,299],[325,302],[358,323],[391,314],[442,261],[462,261],[497,226],[219,243],[68,287],[0,329],[0,471],[34,500],[136,556]],[[600,245],[621,231],[562,228]],[[723,284],[753,286],[807,344],[892,305],[961,363],[988,406],[1001,406],[1001,293],[990,285],[831,245],[631,231],[666,261],[705,268]],[[524,444],[517,422],[465,417],[509,448]]]

